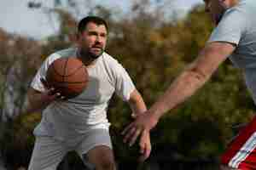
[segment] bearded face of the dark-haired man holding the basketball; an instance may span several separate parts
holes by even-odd
[[[96,59],[106,48],[108,32],[104,25],[89,22],[83,32],[79,33],[79,46],[83,54]]]

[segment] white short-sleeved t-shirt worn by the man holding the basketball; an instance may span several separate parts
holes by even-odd
[[[49,55],[33,78],[31,87],[44,92],[40,78],[45,78],[49,65],[61,57],[76,57],[77,48],[67,48]],[[90,129],[108,129],[108,101],[113,93],[125,101],[135,90],[124,67],[107,53],[103,53],[96,63],[87,68],[89,74],[88,87],[82,94],[64,101],[54,101],[43,111],[43,117],[35,135],[53,136],[56,139],[73,139]]]

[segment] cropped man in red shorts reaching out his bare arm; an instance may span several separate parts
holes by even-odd
[[[125,128],[125,142],[133,144],[139,135],[141,144],[147,142],[150,129],[159,122],[160,117],[195,94],[227,58],[244,72],[247,88],[256,102],[256,1],[204,2],[216,24],[205,48],[146,114],[138,116]],[[222,156],[223,169],[256,169],[255,135],[256,117],[239,133]]]

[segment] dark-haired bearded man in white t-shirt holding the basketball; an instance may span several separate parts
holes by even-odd
[[[146,111],[146,106],[123,66],[104,52],[107,37],[105,20],[85,17],[78,26],[78,47],[49,55],[32,80],[28,90],[29,110],[43,109],[43,117],[34,129],[36,143],[29,170],[54,170],[70,150],[75,150],[92,169],[116,168],[108,133],[108,101],[113,93],[118,94],[131,105],[136,116]],[[81,59],[89,75],[87,88],[72,99],[65,99],[58,89],[48,87],[45,82],[49,65],[65,57]],[[149,136],[143,144],[146,157],[151,147]]]

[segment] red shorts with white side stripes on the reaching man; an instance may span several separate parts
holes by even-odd
[[[230,143],[221,161],[239,170],[256,169],[256,116]]]

